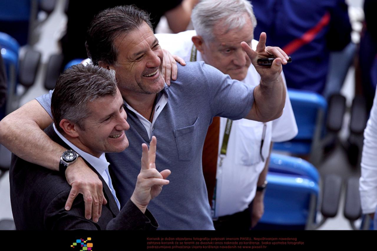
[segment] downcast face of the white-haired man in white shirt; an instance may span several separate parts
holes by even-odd
[[[251,45],[253,40],[253,24],[250,18],[246,20],[241,29],[231,29],[227,33],[224,33],[224,24],[220,21],[213,27],[213,41],[203,41],[200,50],[205,63],[236,80],[246,77],[251,64],[250,58],[241,47],[242,41]]]

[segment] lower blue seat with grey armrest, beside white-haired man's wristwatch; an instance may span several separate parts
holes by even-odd
[[[342,180],[326,177],[322,188],[323,219],[316,223],[319,198],[319,173],[309,162],[279,154],[271,154],[268,185],[264,196],[265,212],[255,229],[315,229],[339,208]]]

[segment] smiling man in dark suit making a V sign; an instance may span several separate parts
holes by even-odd
[[[52,95],[54,123],[46,134],[66,147],[60,160],[60,171],[48,170],[13,156],[10,169],[11,204],[18,230],[154,230],[158,223],[146,209],[162,185],[169,181],[169,170],[155,168],[156,138],[148,149],[142,145],[141,171],[135,191],[120,210],[109,175],[105,152],[121,152],[129,143],[129,129],[123,99],[116,86],[115,73],[98,66],[82,64],[67,69],[58,79]],[[41,153],[40,158],[43,158]],[[77,158],[98,175],[103,184],[107,204],[101,217],[84,217],[82,196],[75,199],[71,210],[64,208],[70,185],[65,169]],[[28,166],[28,168],[25,168]],[[127,163],[125,163],[127,168]],[[98,205],[97,205],[98,206]],[[89,219],[88,219],[89,218]]]

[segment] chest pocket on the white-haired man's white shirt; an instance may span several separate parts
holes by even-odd
[[[262,162],[261,141],[263,123],[241,119],[238,121],[236,161],[240,165],[255,165]],[[266,160],[270,151],[271,132],[266,126],[262,155]],[[258,171],[258,170],[257,170]]]

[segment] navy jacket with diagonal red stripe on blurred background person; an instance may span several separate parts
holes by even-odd
[[[329,55],[351,41],[345,0],[252,0],[257,27],[266,32],[267,45],[282,48],[294,61],[284,67],[288,88],[310,90],[324,96]],[[355,49],[351,48],[351,61]],[[339,63],[338,67],[339,67]],[[345,66],[348,70],[349,64]],[[331,92],[339,92],[343,84]]]

